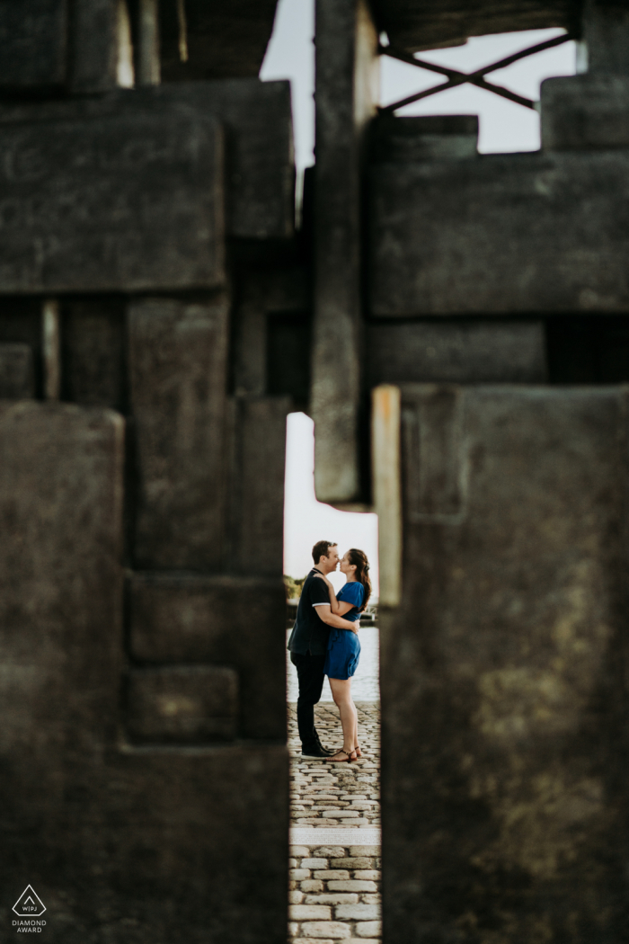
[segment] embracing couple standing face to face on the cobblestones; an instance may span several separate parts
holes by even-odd
[[[360,614],[372,592],[369,562],[367,555],[356,548],[346,551],[339,560],[338,546],[331,541],[318,541],[312,548],[312,559],[314,567],[304,582],[289,639],[290,661],[297,669],[299,682],[297,724],[302,757],[343,764],[362,756],[352,676],[360,658]],[[346,582],[335,594],[327,575],[338,565]],[[314,706],[321,699],[326,675],[339,708],[343,728],[341,750],[324,748],[314,726]]]

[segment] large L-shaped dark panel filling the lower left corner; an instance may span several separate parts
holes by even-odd
[[[285,745],[125,742],[122,446],[114,413],[0,404],[0,936],[30,884],[52,944],[283,944]]]

